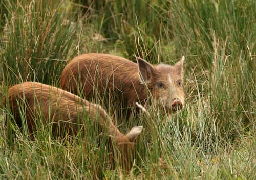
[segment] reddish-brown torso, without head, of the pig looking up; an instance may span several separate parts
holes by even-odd
[[[78,94],[77,87],[86,98],[91,98],[93,91],[103,94],[117,90],[129,93],[130,86],[139,83],[137,64],[122,57],[109,54],[83,54],[75,57],[63,70],[61,87]],[[127,91],[127,92],[125,92]]]

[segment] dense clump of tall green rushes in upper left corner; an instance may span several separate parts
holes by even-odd
[[[1,38],[5,82],[50,83],[61,73],[63,61],[73,55],[75,27],[68,22],[65,9],[55,6],[51,1],[4,1],[8,11]]]

